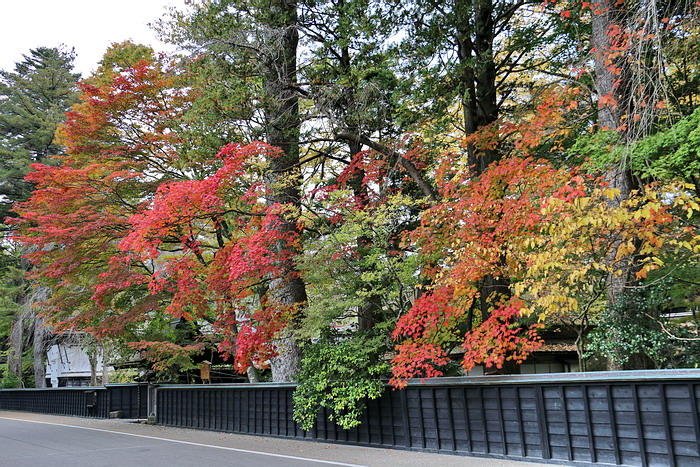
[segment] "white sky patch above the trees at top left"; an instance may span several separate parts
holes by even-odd
[[[156,51],[172,48],[159,42],[148,23],[166,7],[184,9],[185,0],[0,0],[0,69],[36,47],[75,48],[75,70],[83,77],[97,68],[107,47],[131,39]]]

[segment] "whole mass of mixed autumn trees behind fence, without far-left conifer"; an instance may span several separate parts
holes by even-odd
[[[652,3],[173,11],[184,52],[115,44],[65,154],[31,161],[12,223],[47,318],[159,368],[207,347],[298,378],[304,426],[356,424],[385,379],[517,372],[551,328],[582,370],[687,365],[698,7]]]

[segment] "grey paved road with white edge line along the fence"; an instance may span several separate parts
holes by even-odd
[[[0,466],[472,466],[543,464],[0,411]],[[550,464],[551,465],[551,464]]]

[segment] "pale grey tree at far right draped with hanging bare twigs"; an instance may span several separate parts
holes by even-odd
[[[671,18],[681,22],[680,18],[692,15],[694,8],[644,1],[606,1],[591,7],[598,124],[622,148],[618,151],[621,157],[610,161],[606,172],[611,187],[619,192],[611,200],[614,206],[623,205],[630,193],[641,188],[641,174],[630,163],[630,148],[655,132],[659,114],[668,105],[670,93],[662,71],[669,64],[663,38],[674,34],[670,32]],[[610,262],[615,256],[612,251]],[[638,285],[640,259],[630,258],[626,267],[607,280],[608,307],[619,310],[623,316],[624,296]],[[610,368],[621,369],[616,363],[619,360],[612,356]]]

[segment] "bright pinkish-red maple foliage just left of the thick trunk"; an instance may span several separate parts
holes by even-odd
[[[261,142],[225,146],[218,154],[223,165],[212,176],[161,185],[119,244],[159,264],[149,290],[171,295],[166,312],[187,318],[213,313],[226,337],[220,350],[236,356],[240,371],[275,355],[272,340],[293,309],[267,296],[255,306],[251,297],[260,284],[289,279],[285,265],[299,242],[296,230],[281,228],[295,215],[292,207],[265,206],[251,195],[261,185],[250,167],[280,155]]]

